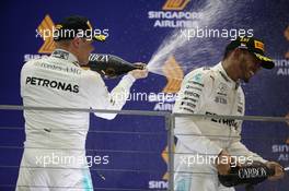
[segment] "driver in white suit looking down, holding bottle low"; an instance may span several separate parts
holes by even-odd
[[[234,188],[220,184],[218,172],[228,175],[230,165],[254,160],[275,168],[270,180],[284,176],[278,163],[265,160],[240,142],[242,121],[213,118],[244,115],[240,81],[247,83],[261,67],[274,68],[274,62],[264,56],[264,44],[253,37],[239,37],[227,46],[220,63],[196,69],[185,76],[173,111],[210,116],[175,119],[175,191],[233,191]]]

